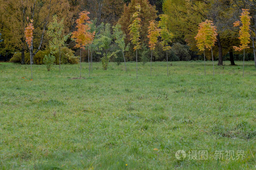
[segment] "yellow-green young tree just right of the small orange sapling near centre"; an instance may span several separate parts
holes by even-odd
[[[160,21],[158,22],[158,27],[160,27],[160,35],[161,35],[161,45],[163,46],[163,51],[166,51],[166,62],[167,62],[167,76],[169,76],[169,71],[168,71],[168,55],[167,55],[167,50],[170,50],[171,47],[169,46],[169,43],[172,42],[172,37],[173,34],[169,32],[167,28],[168,24],[168,19],[169,16],[162,14],[159,16]]]

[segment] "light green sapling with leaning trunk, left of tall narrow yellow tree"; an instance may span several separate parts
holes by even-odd
[[[125,37],[126,35],[123,33],[123,31],[121,30],[121,25],[120,24],[116,24],[116,26],[113,26],[113,37],[115,39],[115,43],[117,44],[118,48],[120,48],[120,50],[123,53],[123,57],[124,57],[124,51],[128,51],[129,50],[129,44],[125,47]],[[126,68],[126,62],[125,62],[125,57],[124,57],[124,64],[125,64],[125,71],[127,71]]]

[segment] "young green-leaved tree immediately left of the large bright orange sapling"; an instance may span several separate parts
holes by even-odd
[[[53,16],[53,21],[49,23],[48,25],[48,31],[47,34],[49,37],[52,38],[52,40],[49,41],[49,47],[51,54],[55,54],[57,51],[59,51],[59,72],[60,72],[60,48],[65,46],[65,41],[67,40],[69,35],[63,36],[64,31],[64,19],[61,19],[61,21],[58,23],[58,18],[56,15]]]

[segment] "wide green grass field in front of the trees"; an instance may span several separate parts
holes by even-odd
[[[134,62],[127,72],[93,63],[90,78],[83,63],[85,79],[72,79],[79,64],[60,74],[34,65],[28,81],[29,65],[0,63],[0,169],[256,169],[253,62],[244,78],[242,62],[215,66],[215,78],[210,61],[206,76],[203,62],[169,64],[167,77],[166,62],[153,63],[153,76],[139,63],[138,80]],[[192,150],[208,159],[189,159]]]

